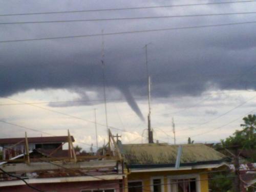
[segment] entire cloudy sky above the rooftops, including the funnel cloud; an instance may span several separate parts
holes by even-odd
[[[105,83],[112,133],[123,143],[147,142],[147,44],[155,142],[174,143],[172,119],[176,143],[232,135],[244,116],[256,112],[256,1],[210,4],[218,2],[224,1],[0,0],[1,138],[70,130],[76,144],[96,147],[96,110],[102,146]],[[187,4],[208,5],[175,6]],[[169,7],[95,11],[152,6]],[[94,11],[6,15],[79,10]],[[235,14],[205,15],[222,13]],[[201,16],[138,18],[170,15]],[[10,24],[131,17],[136,19]],[[234,23],[244,24],[216,26]],[[44,39],[65,36],[83,37]]]

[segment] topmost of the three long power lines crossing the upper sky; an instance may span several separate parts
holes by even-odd
[[[155,9],[155,8],[170,8],[170,7],[188,7],[188,6],[204,6],[204,5],[223,5],[233,3],[252,3],[251,1],[231,1],[231,2],[214,2],[201,4],[180,4],[180,5],[162,5],[162,6],[147,6],[147,7],[126,7],[126,8],[109,8],[109,9],[88,9],[88,10],[74,10],[74,11],[52,11],[52,12],[34,12],[34,13],[9,13],[0,14],[0,16],[15,16],[15,15],[40,15],[40,14],[58,14],[58,13],[81,13],[81,12],[99,12],[99,11],[121,11],[121,10],[137,10],[137,9]]]

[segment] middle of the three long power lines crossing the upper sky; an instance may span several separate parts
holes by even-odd
[[[255,13],[256,12],[234,12],[234,13],[211,13],[211,14],[194,14],[194,15],[147,16],[147,17],[119,17],[119,18],[96,18],[96,19],[75,19],[75,20],[46,20],[46,21],[33,21],[33,22],[6,22],[6,23],[0,23],[0,25],[71,23],[71,22],[100,22],[100,21],[111,21],[111,20],[160,19],[160,18],[178,18],[178,17],[241,15],[241,14],[255,14]]]

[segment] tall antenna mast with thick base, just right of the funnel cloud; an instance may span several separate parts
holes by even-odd
[[[154,143],[153,140],[153,131],[151,129],[151,78],[148,73],[148,61],[147,61],[147,46],[149,44],[145,45],[145,59],[146,59],[146,75],[147,75],[147,99],[148,99],[148,115],[147,115],[147,132],[148,132],[148,143]]]

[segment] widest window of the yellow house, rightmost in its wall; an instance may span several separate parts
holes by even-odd
[[[170,192],[200,192],[199,176],[184,175],[170,178]]]

